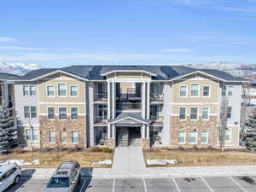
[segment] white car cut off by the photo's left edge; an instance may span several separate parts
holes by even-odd
[[[9,188],[12,184],[17,184],[20,181],[20,166],[9,164],[0,166],[0,192]]]

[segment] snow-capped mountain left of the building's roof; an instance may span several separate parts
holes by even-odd
[[[27,72],[40,67],[37,64],[24,64],[21,62],[7,63],[0,61],[0,73],[11,73],[16,75],[24,75]]]

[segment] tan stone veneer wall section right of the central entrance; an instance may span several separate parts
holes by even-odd
[[[197,131],[197,144],[189,143],[189,131]],[[177,132],[186,131],[186,138],[184,144],[177,143]],[[201,144],[201,131],[208,131],[208,143]],[[218,117],[211,116],[209,120],[202,121],[201,116],[196,121],[190,121],[189,117],[187,120],[181,121],[178,116],[171,116],[171,146],[177,148],[182,146],[185,148],[205,148],[212,146],[212,148],[218,148]]]

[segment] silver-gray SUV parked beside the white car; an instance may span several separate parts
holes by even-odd
[[[81,177],[81,167],[76,161],[62,162],[46,183],[44,192],[73,192]]]

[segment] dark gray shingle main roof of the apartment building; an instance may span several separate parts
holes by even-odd
[[[42,68],[38,70],[26,73],[26,75],[14,78],[16,80],[31,80],[40,77],[44,74],[54,72],[55,70],[61,70],[63,72],[71,73],[73,75],[79,76],[83,79],[89,80],[103,80],[105,77],[102,76],[103,73],[108,73],[114,70],[127,70],[127,71],[137,71],[143,70],[148,73],[154,73],[156,76],[152,76],[154,80],[170,80],[183,76],[187,73],[192,73],[195,71],[201,71],[203,73],[208,73],[218,79],[224,79],[226,81],[243,81],[245,79],[236,78],[229,73],[218,71],[215,69],[195,69],[192,67],[183,66],[72,66],[72,67],[62,67],[62,68]]]

